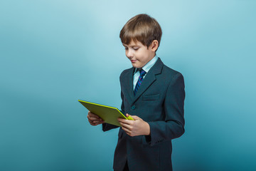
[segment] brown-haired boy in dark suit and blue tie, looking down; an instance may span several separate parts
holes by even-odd
[[[184,133],[184,81],[181,73],[156,56],[161,27],[146,14],[132,17],[120,31],[120,38],[132,68],[120,76],[122,113],[119,118],[114,170],[172,170],[171,140]],[[107,131],[117,126],[104,123],[93,113],[91,125],[102,124]]]

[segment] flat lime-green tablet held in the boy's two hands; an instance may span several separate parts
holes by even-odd
[[[84,100],[78,100],[87,110],[95,115],[100,116],[105,123],[110,123],[112,125],[121,126],[117,118],[124,118],[127,120],[134,120],[131,116],[128,118],[124,116],[118,108],[114,108],[108,105],[100,105],[97,103],[92,103]]]

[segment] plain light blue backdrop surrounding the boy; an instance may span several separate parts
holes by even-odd
[[[117,130],[92,127],[78,99],[120,107],[132,65],[119,31],[141,13],[159,21],[157,54],[185,78],[174,170],[255,170],[255,6],[0,1],[0,170],[112,170]]]

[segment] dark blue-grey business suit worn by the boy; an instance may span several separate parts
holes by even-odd
[[[151,135],[130,137],[119,129],[114,152],[114,170],[172,170],[171,140],[184,133],[184,81],[181,73],[162,63],[159,58],[146,74],[134,96],[134,68],[120,76],[122,112],[137,115],[149,123]],[[117,128],[103,124],[104,131]]]

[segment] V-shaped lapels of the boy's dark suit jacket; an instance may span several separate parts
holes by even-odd
[[[161,59],[159,58],[154,66],[150,68],[149,72],[146,73],[146,76],[144,80],[142,81],[141,86],[139,86],[139,89],[134,97],[134,91],[133,91],[133,81],[130,81],[132,83],[132,103],[134,103],[141,95],[144,93],[144,91],[151,86],[152,83],[156,80],[156,75],[161,73],[161,69],[163,68],[164,63],[162,63]],[[132,79],[133,80],[133,79]]]

